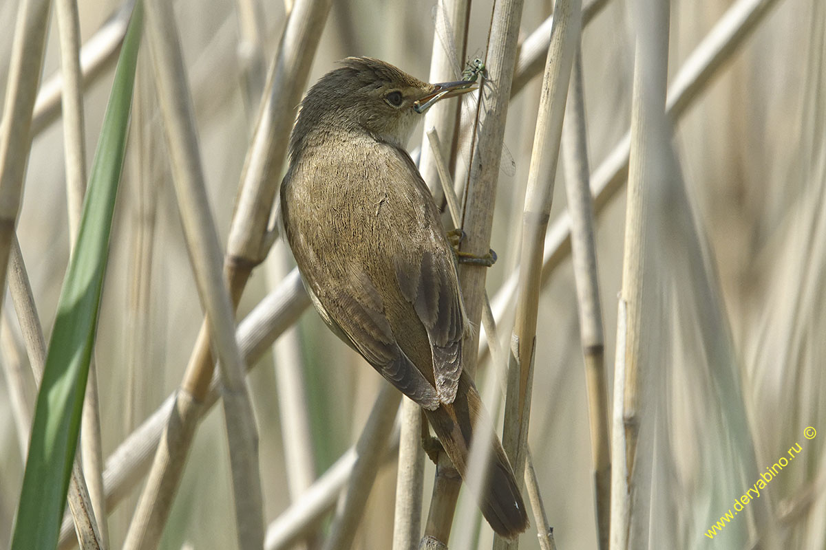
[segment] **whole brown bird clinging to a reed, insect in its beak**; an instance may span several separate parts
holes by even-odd
[[[406,152],[421,115],[476,82],[429,84],[349,57],[306,92],[280,189],[284,234],[326,325],[425,416],[491,528],[529,524],[513,468],[472,377],[471,326],[439,209]],[[481,481],[467,476],[474,430],[491,430]]]

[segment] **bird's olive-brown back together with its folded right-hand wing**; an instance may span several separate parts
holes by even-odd
[[[282,216],[300,251],[299,269],[325,321],[379,372],[387,377],[387,354],[372,356],[360,338],[392,346],[392,337],[433,388],[434,371],[446,377],[439,387],[452,386],[452,401],[465,317],[439,212],[406,152],[368,135],[339,136],[344,140],[335,152],[308,148],[292,158],[282,184]],[[324,284],[330,280],[340,284]],[[348,303],[353,294],[358,307]],[[361,326],[358,318],[341,318],[354,308],[373,318]],[[371,335],[382,327],[364,326],[385,319],[389,334]]]

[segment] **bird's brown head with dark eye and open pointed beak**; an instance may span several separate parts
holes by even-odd
[[[349,57],[325,74],[301,101],[292,149],[308,134],[366,132],[404,148],[420,115],[436,101],[471,92],[473,81],[428,84],[378,59]]]

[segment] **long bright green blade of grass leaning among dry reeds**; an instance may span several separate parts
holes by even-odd
[[[140,46],[140,2],[118,60],[83,201],[78,242],[66,271],[37,396],[12,548],[55,548],[78,441],[83,395],[97,329]]]

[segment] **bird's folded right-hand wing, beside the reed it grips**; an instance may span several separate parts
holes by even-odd
[[[415,242],[418,254],[396,257],[396,280],[430,339],[439,401],[451,403],[462,374],[462,340],[467,319],[456,261],[430,190],[411,157],[400,153],[404,167],[415,176],[417,192],[426,207],[420,219],[424,234]]]

